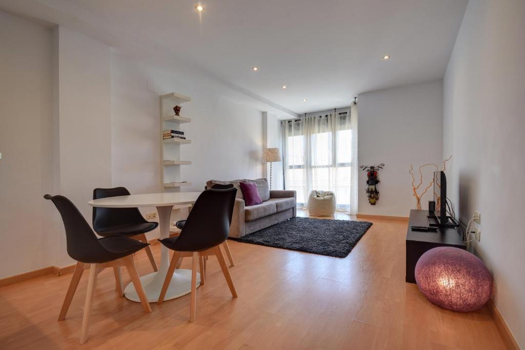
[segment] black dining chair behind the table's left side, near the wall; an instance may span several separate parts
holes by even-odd
[[[129,195],[130,192],[125,187],[93,189],[93,199]],[[152,231],[158,226],[158,222],[150,222],[144,219],[138,208],[93,207],[93,229],[102,237],[122,236],[148,243],[146,232]],[[145,251],[150,259],[153,271],[159,271],[150,246],[146,247]],[[119,276],[120,273],[115,270],[115,278],[119,279]]]

